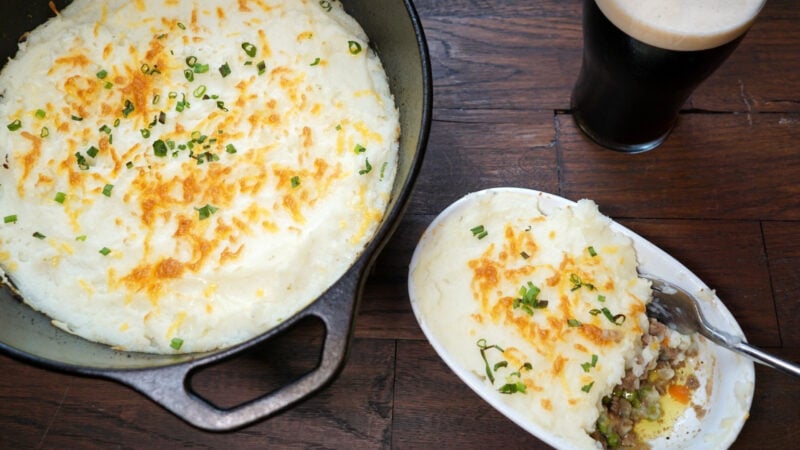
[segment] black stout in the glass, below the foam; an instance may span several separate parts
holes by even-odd
[[[585,0],[583,64],[572,94],[580,129],[605,147],[636,153],[667,137],[694,89],[733,52],[738,37],[709,49],[685,51],[642,42]]]

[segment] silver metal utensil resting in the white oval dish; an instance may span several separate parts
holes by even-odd
[[[740,336],[734,336],[712,327],[703,316],[697,299],[684,289],[652,275],[639,274],[639,276],[652,283],[653,300],[647,305],[648,316],[681,334],[700,333],[715,344],[741,353],[774,369],[800,377],[800,365],[753,347]]]

